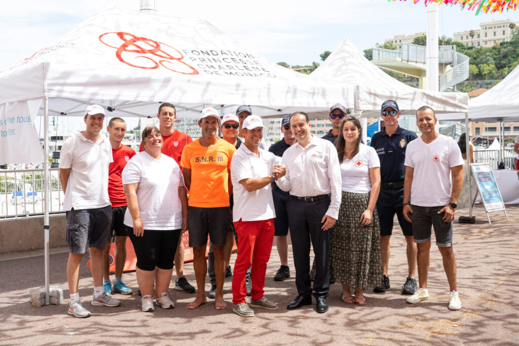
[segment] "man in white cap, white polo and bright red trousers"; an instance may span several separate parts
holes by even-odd
[[[251,307],[276,310],[276,303],[263,296],[265,272],[274,240],[274,200],[270,184],[286,170],[274,167],[279,157],[260,149],[263,139],[263,121],[256,115],[243,120],[244,142],[236,150],[230,164],[230,176],[236,201],[233,222],[238,234],[238,256],[233,275],[233,311],[243,317],[254,316],[245,302],[247,289],[245,275],[251,267]],[[272,174],[271,168],[277,175]],[[279,172],[279,173],[278,173]]]

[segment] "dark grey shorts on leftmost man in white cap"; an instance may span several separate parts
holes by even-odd
[[[112,222],[112,205],[71,210],[66,215],[66,244],[70,252],[84,254],[87,248],[104,250]]]

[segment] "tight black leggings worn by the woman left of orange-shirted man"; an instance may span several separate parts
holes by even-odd
[[[152,271],[173,269],[176,247],[179,244],[180,229],[145,229],[142,237],[133,234],[133,227],[126,227],[137,257],[137,268]]]

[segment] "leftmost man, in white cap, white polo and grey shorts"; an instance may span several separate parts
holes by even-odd
[[[67,261],[67,281],[70,290],[68,313],[88,317],[90,312],[79,300],[79,265],[88,247],[90,271],[94,281],[91,304],[116,307],[120,301],[103,292],[103,250],[106,246],[112,205],[108,198],[108,165],[113,162],[112,145],[101,136],[104,109],[88,106],[85,111],[87,129],[63,143],[60,156],[60,182],[65,198],[66,243],[70,254]]]

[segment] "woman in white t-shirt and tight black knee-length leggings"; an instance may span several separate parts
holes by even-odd
[[[142,294],[142,311],[153,311],[153,286],[157,305],[173,308],[168,296],[173,259],[179,237],[187,227],[187,194],[176,161],[160,153],[159,129],[142,131],[144,151],[122,170],[128,208],[124,224],[137,257],[136,274]]]

